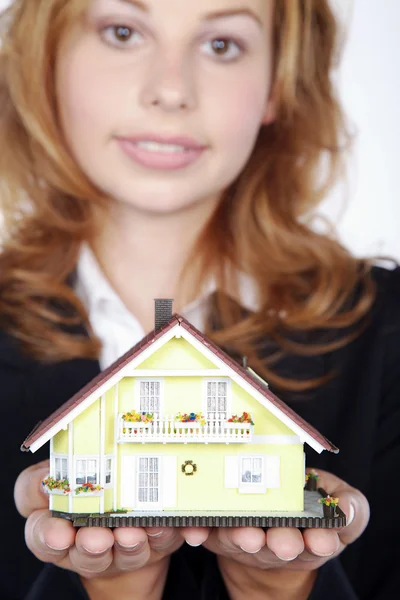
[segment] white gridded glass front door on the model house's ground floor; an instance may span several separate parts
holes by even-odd
[[[137,464],[137,508],[160,507],[160,459],[157,456],[139,456]]]

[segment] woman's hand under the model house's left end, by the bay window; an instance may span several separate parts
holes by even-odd
[[[49,473],[49,461],[25,469],[18,477],[14,498],[19,513],[27,518],[25,539],[28,548],[41,561],[75,571],[86,579],[114,577],[163,565],[186,540],[201,544],[206,529],[141,529],[136,527],[73,527],[66,519],[51,516],[48,495],[42,480]],[[159,573],[157,573],[159,576]]]

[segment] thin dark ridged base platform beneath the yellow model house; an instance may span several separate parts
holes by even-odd
[[[304,491],[304,511],[231,512],[227,511],[127,511],[124,513],[82,514],[52,511],[53,517],[68,519],[74,527],[296,527],[334,529],[345,527],[346,515],[338,506],[336,515],[323,516],[318,503],[327,493]]]

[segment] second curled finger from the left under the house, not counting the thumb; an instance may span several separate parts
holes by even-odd
[[[113,545],[111,529],[81,527],[69,552],[72,569],[86,578],[103,573],[113,562]]]

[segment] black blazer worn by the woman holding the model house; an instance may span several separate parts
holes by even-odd
[[[340,558],[319,570],[312,600],[391,600],[400,589],[400,268],[374,268],[378,298],[364,333],[345,348],[317,358],[288,356],[278,365],[292,377],[337,375],[309,394],[280,397],[340,448],[318,455],[306,446],[310,466],[335,473],[369,499],[366,532]],[[92,360],[41,365],[24,357],[0,332],[2,465],[0,598],[87,598],[79,578],[43,565],[24,543],[24,519],[13,502],[16,477],[48,457],[20,444],[46,418],[99,372]],[[184,545],[172,559],[164,600],[225,600],[215,557]]]

